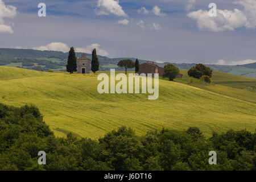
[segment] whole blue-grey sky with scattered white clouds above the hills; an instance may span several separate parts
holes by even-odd
[[[236,65],[255,62],[255,40],[256,0],[0,0],[2,48]]]

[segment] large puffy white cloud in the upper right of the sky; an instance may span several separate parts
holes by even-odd
[[[245,26],[247,20],[242,11],[234,9],[229,10],[217,10],[217,17],[210,17],[208,11],[198,10],[187,14],[189,18],[197,20],[197,27],[200,30],[209,31],[225,31],[234,30]]]

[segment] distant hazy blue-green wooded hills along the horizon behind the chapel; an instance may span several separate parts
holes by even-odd
[[[77,57],[80,57],[82,53],[76,53]],[[86,54],[91,59],[91,54]],[[37,69],[48,71],[53,69],[54,71],[65,71],[65,65],[67,64],[68,53],[60,51],[38,51],[34,49],[11,49],[0,48],[0,65],[8,67]],[[98,55],[100,61],[100,71],[109,71],[110,68],[115,68],[118,71],[122,70],[117,67],[117,63],[122,59],[131,59],[135,61],[136,58],[130,57],[117,57],[109,58]],[[146,60],[139,60],[140,63]],[[160,67],[164,67],[166,63],[157,63]],[[179,69],[190,69],[196,64],[176,64],[173,63]],[[245,76],[250,78],[256,78],[256,63],[245,65],[208,65],[214,71],[230,73],[233,75]]]

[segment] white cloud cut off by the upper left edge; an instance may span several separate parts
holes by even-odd
[[[0,0],[0,32],[13,33],[13,28],[7,25],[3,19],[14,18],[16,14],[16,7],[10,5],[6,6],[5,3]]]

